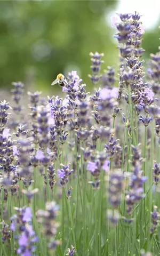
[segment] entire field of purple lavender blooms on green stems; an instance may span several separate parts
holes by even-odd
[[[70,71],[0,97],[0,256],[160,255],[160,52],[144,63],[139,13],[115,26],[119,70],[91,52],[94,92]]]

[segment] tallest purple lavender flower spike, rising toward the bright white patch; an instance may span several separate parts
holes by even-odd
[[[125,17],[125,18],[124,18]],[[127,17],[127,18],[126,18]],[[119,14],[121,22],[116,24],[118,33],[116,38],[119,42],[121,54],[121,69],[119,74],[119,95],[121,100],[124,87],[131,87],[131,100],[134,105],[150,105],[153,102],[153,94],[148,85],[143,82],[144,72],[140,57],[144,50],[141,47],[143,31],[141,29],[140,15]],[[127,100],[127,97],[125,97]]]

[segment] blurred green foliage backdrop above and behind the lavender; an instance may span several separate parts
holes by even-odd
[[[29,90],[48,91],[57,74],[71,70],[91,86],[87,76],[91,51],[105,53],[104,68],[117,68],[115,31],[106,21],[116,4],[114,0],[0,2],[0,87],[10,89],[12,81],[22,81]],[[145,34],[145,58],[158,50],[158,38],[158,25]]]

